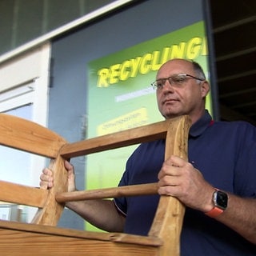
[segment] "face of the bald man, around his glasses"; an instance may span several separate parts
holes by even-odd
[[[190,62],[183,60],[173,60],[166,62],[158,71],[157,79],[169,78],[176,74],[190,74],[197,77]],[[205,102],[203,98],[208,93],[204,83],[186,77],[183,82],[177,85],[170,85],[166,80],[161,88],[157,89],[158,109],[165,118],[174,118],[182,114],[193,116],[204,110]]]

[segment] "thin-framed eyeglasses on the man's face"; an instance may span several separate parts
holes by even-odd
[[[169,78],[161,78],[151,83],[151,86],[157,89],[162,89],[162,87],[166,84],[166,80],[170,82],[171,86],[180,87],[188,78],[194,78],[199,81],[205,81],[202,78],[196,78],[191,74],[174,74],[171,75]]]

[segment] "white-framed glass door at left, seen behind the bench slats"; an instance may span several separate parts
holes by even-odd
[[[50,46],[0,65],[0,113],[46,126]],[[46,166],[41,156],[0,146],[0,180],[39,186]],[[30,222],[37,209],[0,202],[0,219]]]

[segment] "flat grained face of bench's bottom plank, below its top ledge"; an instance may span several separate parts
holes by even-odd
[[[157,256],[158,247],[0,228],[1,256]],[[15,241],[15,242],[14,242]]]

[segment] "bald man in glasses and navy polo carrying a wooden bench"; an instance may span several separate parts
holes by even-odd
[[[158,182],[158,194],[172,195],[186,205],[182,256],[256,255],[255,127],[212,120],[205,110],[210,86],[196,62],[166,62],[152,85],[164,118],[188,114],[192,120],[189,162],[177,156],[164,162],[163,140],[142,143],[128,159],[119,186]],[[72,191],[74,168],[69,162],[65,165]],[[53,186],[50,170],[43,170],[40,185]],[[103,230],[146,235],[158,199],[153,195],[66,206]]]

